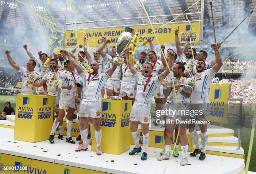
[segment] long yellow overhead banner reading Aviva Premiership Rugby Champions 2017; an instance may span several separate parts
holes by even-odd
[[[199,43],[200,40],[200,23],[182,23],[182,24],[169,24],[169,25],[151,25],[132,27],[138,30],[138,45],[151,37],[153,44],[174,44],[174,30],[179,26],[179,39],[181,43],[187,41],[187,36],[191,34],[191,42]],[[84,43],[84,36],[88,37],[87,44],[90,47],[97,47],[102,45],[102,37],[110,39],[109,45],[116,45],[120,34],[124,32],[124,28],[104,28],[104,29],[87,29],[87,30],[73,30],[66,32],[65,47],[76,47]],[[155,34],[154,34],[155,33]],[[156,39],[157,37],[157,39]]]

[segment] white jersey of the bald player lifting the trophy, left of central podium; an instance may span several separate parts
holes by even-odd
[[[80,74],[83,87],[83,101],[101,102],[101,89],[110,78],[107,73],[91,74],[82,72]]]

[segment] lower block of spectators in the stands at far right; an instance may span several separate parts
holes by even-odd
[[[231,98],[243,98],[243,103],[256,103],[256,78],[251,79],[221,79],[213,78],[212,83],[231,83]],[[229,101],[239,103],[239,101]]]

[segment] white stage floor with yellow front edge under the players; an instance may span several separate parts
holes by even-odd
[[[148,147],[148,159],[141,161],[141,153],[129,156],[126,151],[120,155],[103,153],[97,156],[95,152],[90,151],[90,146],[88,151],[75,152],[77,143],[69,144],[64,140],[58,140],[56,136],[54,144],[50,144],[49,141],[29,143],[15,141],[14,129],[1,127],[0,132],[3,135],[0,139],[0,163],[14,165],[15,161],[21,160],[25,161],[25,166],[27,161],[31,165],[28,173],[34,173],[33,169],[37,169],[38,174],[39,171],[42,174],[44,171],[46,174],[243,174],[244,169],[242,158],[207,154],[205,161],[200,161],[198,156],[189,156],[189,165],[180,166],[180,156],[157,161],[156,157],[162,151],[160,148]],[[131,145],[131,149],[133,147]]]

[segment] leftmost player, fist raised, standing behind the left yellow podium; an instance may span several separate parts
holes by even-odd
[[[27,67],[24,68],[22,66],[18,66],[15,61],[10,56],[10,51],[6,50],[5,54],[8,58],[8,62],[10,65],[16,70],[19,71],[22,75],[22,94],[36,94],[36,88],[34,88],[31,84],[29,84],[29,81],[37,82],[39,81],[42,76],[40,73],[34,71],[36,67],[36,61],[30,59],[27,62]]]

